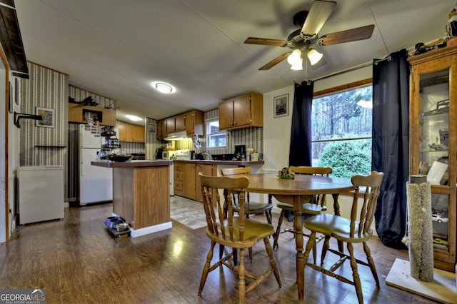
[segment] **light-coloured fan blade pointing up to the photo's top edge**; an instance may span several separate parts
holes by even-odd
[[[301,27],[301,33],[305,36],[316,36],[322,29],[323,24],[326,23],[328,16],[335,9],[335,6],[336,2],[334,1],[314,1],[305,23]]]

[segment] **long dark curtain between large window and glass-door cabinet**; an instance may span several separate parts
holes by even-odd
[[[376,231],[384,245],[405,248],[409,171],[409,64],[407,51],[373,61],[373,158],[384,173],[376,207]]]

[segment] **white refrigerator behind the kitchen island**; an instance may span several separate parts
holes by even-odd
[[[79,125],[79,205],[113,200],[113,169],[91,165],[104,143],[102,130],[103,126]]]

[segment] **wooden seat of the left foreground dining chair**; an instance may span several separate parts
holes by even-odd
[[[239,218],[233,217],[233,242],[239,242]],[[229,219],[226,218],[224,220],[224,228],[226,233],[226,238],[230,238],[229,236]],[[219,234],[221,234],[221,227],[218,227]],[[268,238],[268,236],[272,235],[274,232],[274,228],[272,225],[267,223],[260,223],[258,221],[252,221],[248,218],[244,219],[244,240],[249,240],[251,238],[256,238],[261,240],[263,238]]]

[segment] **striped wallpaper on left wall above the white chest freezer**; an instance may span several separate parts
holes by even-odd
[[[69,76],[31,62],[27,65],[30,78],[21,78],[19,90],[21,113],[36,114],[37,108],[46,108],[54,126],[20,120],[19,166],[64,166],[66,187]]]

